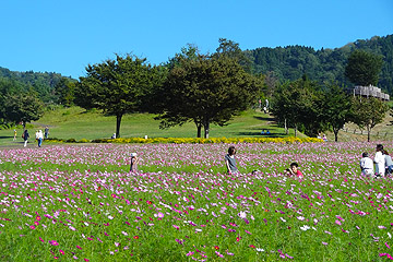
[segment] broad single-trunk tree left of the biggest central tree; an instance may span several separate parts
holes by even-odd
[[[116,116],[116,136],[120,138],[122,116],[140,110],[144,96],[159,84],[157,71],[145,58],[131,55],[88,64],[86,76],[75,87],[75,104]]]

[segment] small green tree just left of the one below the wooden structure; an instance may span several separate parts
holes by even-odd
[[[350,118],[350,97],[337,83],[331,82],[323,97],[323,121],[333,130],[334,141],[338,141],[338,131]]]

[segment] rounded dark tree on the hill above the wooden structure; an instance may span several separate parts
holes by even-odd
[[[355,50],[348,58],[345,76],[356,85],[377,85],[383,60],[381,56]]]

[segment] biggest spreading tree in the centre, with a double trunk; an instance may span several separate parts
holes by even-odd
[[[165,97],[157,119],[162,127],[193,121],[196,136],[203,127],[209,138],[211,123],[226,124],[251,104],[261,86],[259,79],[229,57],[178,57],[160,91]]]

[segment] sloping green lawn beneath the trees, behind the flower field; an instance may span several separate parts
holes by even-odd
[[[121,121],[122,138],[195,138],[196,128],[192,122],[167,130],[159,129],[159,121],[151,114],[126,115]],[[116,117],[107,117],[99,111],[86,111],[80,107],[58,108],[28,126],[32,141],[35,130],[50,128],[50,138],[58,139],[103,139],[110,138],[116,131]],[[269,129],[272,136],[286,136],[272,116],[260,110],[248,110],[235,117],[225,127],[212,126],[211,138],[260,136],[262,129]],[[43,130],[44,131],[44,130]],[[293,130],[291,130],[293,132]],[[12,146],[22,143],[22,127],[17,127],[17,141],[13,142],[13,129],[0,130],[0,145]],[[293,134],[293,133],[291,133]]]

